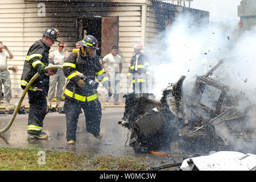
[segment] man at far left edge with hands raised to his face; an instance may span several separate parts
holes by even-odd
[[[6,51],[3,51],[5,49]],[[5,86],[5,100],[6,106],[10,105],[11,100],[11,78],[10,73],[7,69],[7,58],[13,59],[13,54],[0,42],[0,92],[2,91],[2,84]],[[2,100],[2,94],[0,94],[0,101]],[[1,102],[0,102],[1,105]]]

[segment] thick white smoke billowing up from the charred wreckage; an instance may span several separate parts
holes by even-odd
[[[157,100],[162,97],[162,90],[170,82],[177,82],[182,75],[184,94],[191,94],[197,76],[205,75],[219,60],[224,63],[214,72],[222,84],[230,87],[229,94],[245,96],[238,109],[245,110],[256,104],[256,28],[238,36],[237,28],[216,22],[198,26],[193,24],[191,16],[181,16],[158,37],[158,42],[164,45],[159,51],[146,50],[150,57],[151,72],[154,75],[152,92]],[[249,119],[251,127],[255,128],[255,112]],[[226,131],[219,134],[229,139],[231,143],[238,142]],[[242,142],[235,144],[242,148]]]

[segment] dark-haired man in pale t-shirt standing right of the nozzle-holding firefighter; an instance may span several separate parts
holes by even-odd
[[[118,54],[118,47],[117,46],[112,46],[111,47],[111,53],[103,57],[103,63],[102,63],[102,68],[106,68],[105,71],[107,73],[107,76],[110,78],[110,86],[113,87],[113,92],[114,92],[114,105],[119,105],[118,100],[119,100],[119,80],[120,80],[120,75],[118,73],[122,72],[122,58]],[[106,63],[106,67],[104,64]],[[106,105],[109,105],[109,94],[106,94],[105,96],[106,100]]]

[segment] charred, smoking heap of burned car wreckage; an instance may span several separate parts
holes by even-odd
[[[131,130],[130,146],[135,153],[171,150],[171,143],[189,152],[233,150],[216,127],[226,127],[229,134],[245,140],[254,136],[254,130],[243,123],[253,106],[246,111],[238,110],[239,97],[230,96],[229,86],[210,77],[223,61],[218,61],[206,75],[197,76],[192,93],[186,98],[182,88],[186,76],[169,84],[160,101],[148,93],[123,96],[125,112],[118,124]],[[215,90],[215,94],[210,90]]]

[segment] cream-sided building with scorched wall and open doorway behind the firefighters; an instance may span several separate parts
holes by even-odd
[[[46,27],[58,28],[59,40],[67,44],[69,52],[87,34],[99,40],[102,56],[110,52],[113,44],[118,45],[125,73],[133,44],[142,42],[145,47],[154,47],[155,36],[183,13],[193,14],[197,22],[209,19],[207,11],[153,0],[1,0],[0,41],[14,54],[9,67],[18,66],[18,72],[10,71],[13,95],[22,94],[20,78],[26,53]],[[56,49],[57,44],[50,51]]]

